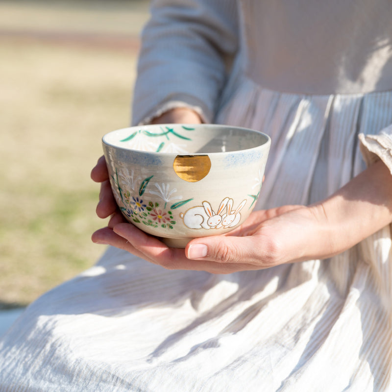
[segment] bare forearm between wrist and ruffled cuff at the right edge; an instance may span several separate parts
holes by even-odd
[[[392,175],[382,161],[348,182],[326,200],[311,206],[332,256],[392,222]]]

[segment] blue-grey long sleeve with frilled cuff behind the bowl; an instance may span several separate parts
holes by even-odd
[[[132,123],[176,106],[211,122],[225,81],[227,56],[238,48],[235,0],[154,0],[142,32]]]

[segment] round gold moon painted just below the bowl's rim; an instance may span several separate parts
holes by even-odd
[[[211,160],[208,155],[177,155],[173,169],[182,180],[197,182],[210,172]]]

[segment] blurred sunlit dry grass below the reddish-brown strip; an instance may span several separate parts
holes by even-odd
[[[104,133],[129,124],[135,57],[0,40],[0,303],[29,303],[96,262]]]

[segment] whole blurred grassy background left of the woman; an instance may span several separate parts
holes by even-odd
[[[0,2],[0,309],[92,266],[101,137],[128,126],[147,0]]]

